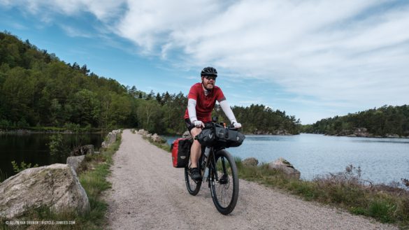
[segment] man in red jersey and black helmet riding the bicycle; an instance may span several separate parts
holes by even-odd
[[[201,71],[201,82],[198,82],[189,90],[187,95],[187,109],[185,112],[185,122],[187,129],[194,138],[201,133],[201,129],[205,127],[205,123],[211,122],[211,114],[215,108],[216,101],[219,102],[224,114],[229,118],[231,124],[236,129],[241,128],[241,124],[237,122],[234,113],[231,110],[229,103],[220,87],[215,86],[217,78],[217,71],[213,67],[206,67]],[[200,170],[197,167],[199,158],[201,156],[201,144],[194,140],[192,148],[190,149],[190,159],[192,166],[190,173],[192,179],[200,180]]]

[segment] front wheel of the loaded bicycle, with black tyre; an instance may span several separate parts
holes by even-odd
[[[238,199],[236,162],[226,150],[220,150],[215,154],[215,162],[216,165],[211,167],[210,192],[217,210],[227,215],[234,210]]]

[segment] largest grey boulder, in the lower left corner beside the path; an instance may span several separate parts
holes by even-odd
[[[13,219],[41,206],[56,213],[89,210],[87,194],[71,166],[28,168],[0,184],[0,217]]]

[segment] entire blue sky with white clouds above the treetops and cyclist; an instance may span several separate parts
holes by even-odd
[[[302,124],[409,103],[409,1],[0,0],[0,29],[145,92],[214,66],[231,105]]]

